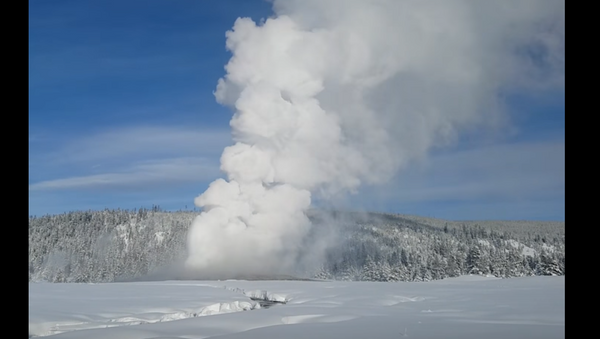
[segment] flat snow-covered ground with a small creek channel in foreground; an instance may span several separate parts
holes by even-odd
[[[261,308],[251,298],[285,302]],[[48,338],[564,338],[565,279],[29,284]],[[243,312],[246,311],[246,312]]]

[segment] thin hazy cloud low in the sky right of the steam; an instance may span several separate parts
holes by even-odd
[[[540,206],[547,216],[554,206],[564,218],[565,143],[496,144],[432,155],[400,172],[391,185],[369,187],[361,195],[352,202],[373,210],[393,206],[409,214],[468,219],[496,213],[514,219],[532,218],[531,208]]]

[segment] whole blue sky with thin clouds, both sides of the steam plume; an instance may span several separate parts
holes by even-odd
[[[213,91],[262,0],[30,1],[29,210],[191,209],[231,144]],[[511,94],[493,142],[465,135],[344,206],[446,219],[565,218],[565,93]]]

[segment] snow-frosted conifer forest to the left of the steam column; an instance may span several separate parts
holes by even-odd
[[[77,211],[29,218],[29,280],[112,282],[145,276],[186,255],[197,212]]]

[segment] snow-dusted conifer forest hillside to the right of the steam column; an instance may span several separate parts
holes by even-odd
[[[564,223],[521,222],[526,227],[516,228],[517,222],[507,222],[502,231],[498,221],[433,225],[384,214],[354,219],[359,221],[340,225],[345,231],[339,234],[346,236],[328,250],[319,278],[428,281],[464,274],[565,274]]]

